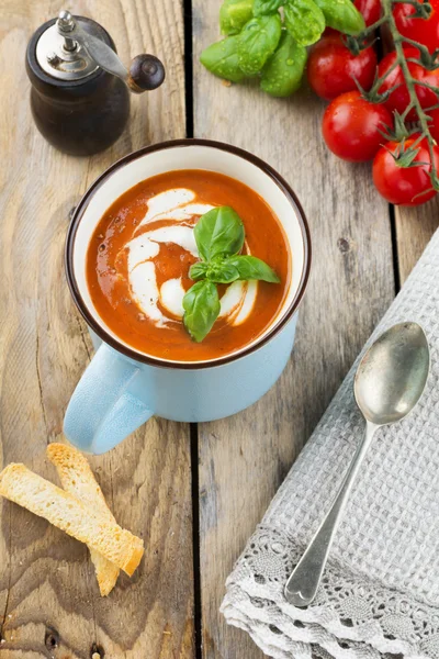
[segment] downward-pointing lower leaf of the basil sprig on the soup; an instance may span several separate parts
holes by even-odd
[[[183,309],[185,328],[196,343],[202,342],[219,314],[216,286],[206,279],[194,283],[183,298]]]

